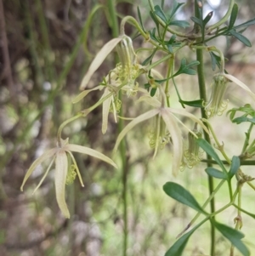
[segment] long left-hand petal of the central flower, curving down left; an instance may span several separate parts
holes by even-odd
[[[151,117],[155,117],[159,113],[159,109],[154,109],[151,111],[147,111],[144,114],[140,115],[139,117],[135,117],[133,121],[129,122],[125,128],[122,129],[122,132],[119,134],[118,138],[116,139],[116,145],[114,146],[113,151],[116,152],[116,149],[122,139],[126,136],[126,134],[139,122],[144,122],[147,119],[150,119]]]

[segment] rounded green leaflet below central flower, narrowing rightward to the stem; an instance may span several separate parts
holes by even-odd
[[[163,185],[163,190],[165,191],[167,196],[172,197],[176,201],[195,209],[195,211],[199,213],[207,214],[201,208],[198,202],[196,202],[194,196],[192,196],[189,191],[186,191],[181,185],[178,185],[174,182],[167,182],[165,185]]]

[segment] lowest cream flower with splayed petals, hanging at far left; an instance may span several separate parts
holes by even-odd
[[[65,185],[66,183],[70,183],[70,175],[72,176],[71,179],[74,179],[76,175],[73,174],[75,171],[77,173],[78,178],[80,179],[81,185],[83,185],[82,182],[82,176],[80,174],[79,168],[77,167],[77,162],[71,152],[79,152],[82,154],[87,154],[88,156],[94,156],[96,158],[99,158],[100,160],[107,162],[111,164],[113,167],[116,168],[116,163],[113,162],[109,157],[105,156],[104,154],[100,153],[99,151],[94,151],[93,149],[90,149],[85,146],[81,145],[74,145],[68,143],[67,139],[61,139],[59,145],[54,147],[51,150],[46,151],[42,154],[35,162],[31,164],[31,167],[28,169],[26,176],[23,180],[23,183],[20,187],[20,190],[23,191],[23,187],[26,184],[26,180],[30,177],[31,173],[39,166],[42,162],[45,160],[52,158],[52,161],[50,162],[46,173],[43,175],[41,181],[37,185],[35,193],[37,189],[42,185],[43,180],[46,178],[48,171],[53,166],[55,162],[55,175],[54,175],[54,183],[55,183],[55,192],[56,192],[56,198],[59,205],[59,208],[61,212],[64,214],[65,218],[70,218],[70,213],[67,208],[66,202],[65,202]],[[73,163],[71,165],[71,172],[70,175],[68,174],[68,169],[70,168],[70,164],[68,163],[67,156],[71,156],[71,162]]]

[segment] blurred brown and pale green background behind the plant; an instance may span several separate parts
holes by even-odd
[[[20,192],[22,179],[31,162],[55,145],[59,124],[77,111],[93,105],[101,97],[96,92],[77,105],[71,103],[79,93],[82,76],[94,55],[111,39],[107,3],[104,0],[0,2],[0,255],[121,255],[123,222],[120,170],[91,157],[77,155],[85,187],[82,188],[78,180],[66,186],[66,200],[71,210],[71,219],[68,220],[59,212],[55,200],[54,170],[50,171],[36,194],[31,195],[47,167],[42,165],[37,168],[26,183],[25,192]],[[179,15],[192,24],[187,17],[192,14],[193,1],[186,2]],[[251,8],[254,0],[236,2],[240,3],[240,23],[254,17],[255,9]],[[165,1],[166,9],[171,3]],[[100,8],[99,4],[105,7]],[[160,1],[155,1],[155,4],[160,4]],[[118,17],[121,19],[127,14],[137,17],[138,5],[144,24],[150,30],[152,23],[145,0],[116,1]],[[97,6],[99,10],[91,26],[86,27],[89,14]],[[219,1],[218,4],[216,1],[205,1],[204,12],[207,14],[213,10],[217,20],[224,15],[227,6],[228,1]],[[254,30],[252,26],[244,32],[252,43],[255,41]],[[87,31],[88,39],[84,42]],[[126,33],[133,37],[136,31],[127,25]],[[137,37],[134,47],[139,48],[143,43],[142,38]],[[224,50],[229,59],[227,71],[251,88],[253,83],[254,91],[254,48],[245,48],[234,39],[227,47],[224,37],[214,43]],[[182,54],[187,59],[195,58],[195,54],[188,50]],[[179,60],[181,57],[180,54]],[[146,56],[140,58],[143,61]],[[209,85],[213,74],[210,60],[208,56],[206,58]],[[114,54],[111,54],[99,67],[89,86],[97,85],[114,65]],[[143,84],[144,81],[140,82]],[[184,76],[179,79],[178,84],[185,99],[198,96],[197,88],[191,88],[195,83],[196,77]],[[172,99],[175,97],[173,94]],[[243,105],[249,100],[234,86],[229,88],[228,98],[231,102],[228,108]],[[136,117],[141,109],[137,105],[130,105],[130,102],[126,102],[128,107],[124,106],[124,114]],[[242,125],[236,128],[225,114],[215,117],[213,125],[229,155],[238,154],[236,152],[241,151],[238,141],[244,138],[247,127]],[[101,134],[101,107],[88,118],[73,122],[64,129],[64,136],[69,137],[72,143],[90,146],[107,156],[111,156],[116,135],[116,123],[112,117],[107,133],[104,136]],[[132,256],[163,255],[195,215],[195,211],[164,194],[161,187],[165,182],[173,180],[184,185],[201,203],[207,199],[204,165],[201,163],[196,168],[185,169],[175,178],[171,172],[170,148],[160,151],[153,160],[148,140],[146,123],[127,135],[127,254]],[[118,157],[116,155],[114,158],[117,163],[120,162]],[[246,173],[252,175],[252,169],[245,168]],[[217,207],[228,202],[225,195],[227,191],[220,191],[216,197]],[[243,195],[244,208],[254,213],[254,191],[245,187]],[[235,214],[235,209],[229,208],[218,216],[218,220],[233,226]],[[243,221],[244,241],[255,254],[254,219],[244,216]],[[191,237],[184,256],[208,255],[208,247],[209,226],[203,225]],[[218,256],[229,254],[226,253],[229,252],[229,242],[220,234],[217,234],[216,251]],[[239,255],[237,251],[235,255]]]

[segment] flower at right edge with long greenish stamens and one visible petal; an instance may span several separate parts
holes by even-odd
[[[248,88],[246,84],[229,74],[218,73],[213,77],[212,94],[205,106],[207,117],[214,117],[215,115],[221,116],[227,108],[228,100],[224,101],[223,99],[229,81],[235,82],[255,99],[255,94],[252,93],[251,89]]]

